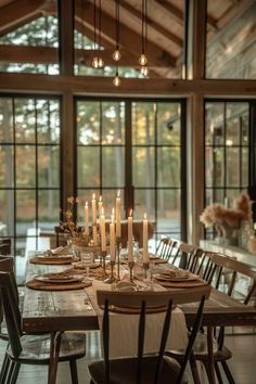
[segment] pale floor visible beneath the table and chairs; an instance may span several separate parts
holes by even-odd
[[[229,366],[236,384],[256,384],[256,335],[229,335],[226,344],[233,350],[233,358]],[[89,384],[87,366],[98,359],[99,336],[98,332],[88,333],[87,358],[78,361],[78,374],[80,384]],[[4,353],[4,342],[0,344],[0,358]],[[207,384],[202,371],[202,384]],[[47,367],[23,366],[18,375],[17,384],[47,384]],[[225,381],[225,384],[227,381]],[[71,384],[69,369],[67,363],[60,363],[57,369],[57,384]]]

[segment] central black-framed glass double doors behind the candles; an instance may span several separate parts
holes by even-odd
[[[181,236],[181,102],[77,100],[77,194],[103,196],[110,216],[144,213],[156,235]],[[183,170],[184,171],[184,170]]]

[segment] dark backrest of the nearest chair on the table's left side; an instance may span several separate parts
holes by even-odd
[[[7,260],[9,264],[10,260]],[[4,260],[0,261],[1,267]],[[18,357],[22,351],[20,342],[21,331],[21,312],[16,296],[16,283],[13,271],[0,271],[0,291],[2,298],[2,307],[7,322],[9,343],[14,357]]]

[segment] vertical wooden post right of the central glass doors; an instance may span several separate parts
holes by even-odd
[[[188,1],[187,76],[205,76],[206,0]],[[203,238],[200,214],[204,208],[204,98],[194,89],[188,102],[188,241],[197,244]]]

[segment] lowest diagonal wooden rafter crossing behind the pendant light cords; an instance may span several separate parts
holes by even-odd
[[[85,4],[85,9],[81,9],[82,4],[78,1],[77,9],[79,9],[79,15],[85,16],[85,22],[89,25],[93,25],[93,7],[89,2]],[[135,55],[140,55],[139,51],[139,42],[141,37],[139,34],[128,28],[124,24],[120,26],[121,28],[121,41],[120,44],[123,47],[128,48],[130,52]],[[115,40],[115,18],[107,15],[106,13],[102,13],[102,33],[103,35]],[[155,43],[148,41],[148,51],[146,51],[149,62],[151,65],[158,66],[164,61],[166,65],[176,66],[176,59],[171,56],[169,53],[164,51],[162,48],[156,46]]]

